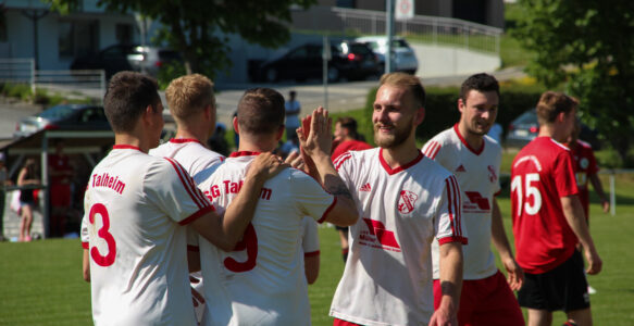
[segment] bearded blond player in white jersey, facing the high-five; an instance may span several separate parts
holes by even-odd
[[[359,208],[350,253],[331,306],[334,325],[458,325],[462,286],[460,188],[425,158],[415,127],[425,115],[419,78],[381,77],[372,123],[378,148],[335,160]],[[440,243],[443,297],[434,312],[431,244]]]

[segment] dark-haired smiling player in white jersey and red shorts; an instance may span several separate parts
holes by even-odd
[[[495,196],[500,191],[501,147],[487,136],[499,106],[499,85],[494,76],[475,74],[462,83],[460,121],[432,138],[423,153],[453,172],[462,191],[462,221],[469,246],[462,248],[464,269],[458,323],[460,325],[524,325],[511,290],[522,286],[524,273],[513,259]],[[497,269],[490,251],[496,246],[508,273]],[[438,243],[432,246],[434,305],[439,305]],[[509,288],[510,286],[510,288]]]

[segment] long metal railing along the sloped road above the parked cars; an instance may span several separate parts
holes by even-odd
[[[346,37],[386,33],[385,12],[316,7],[293,13],[296,30],[320,30]],[[327,24],[324,24],[327,22]],[[409,41],[448,45],[499,55],[501,28],[457,18],[417,15],[395,21],[395,35]]]

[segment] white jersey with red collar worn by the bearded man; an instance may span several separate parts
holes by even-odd
[[[393,170],[383,149],[335,160],[359,222],[331,315],[361,325],[426,325],[434,312],[430,247],[467,242],[456,178],[421,153]]]

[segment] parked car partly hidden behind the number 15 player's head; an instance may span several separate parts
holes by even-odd
[[[507,147],[522,148],[539,134],[539,123],[537,122],[537,112],[531,109],[509,124],[509,130],[506,137]],[[581,124],[581,140],[587,141],[593,149],[601,148],[601,142],[596,130],[591,129],[587,125]]]

